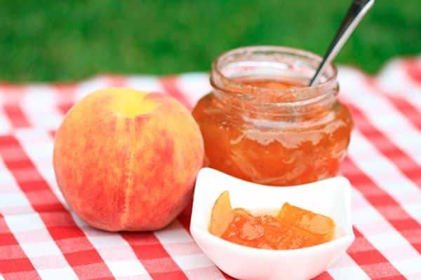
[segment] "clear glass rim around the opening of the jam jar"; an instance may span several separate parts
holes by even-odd
[[[319,55],[314,54],[313,52],[309,52],[307,50],[301,50],[298,48],[288,48],[283,46],[275,46],[275,45],[255,45],[255,46],[246,46],[241,48],[234,48],[232,50],[228,50],[227,52],[223,52],[221,55],[216,57],[212,63],[212,73],[210,76],[210,83],[216,90],[222,90],[223,92],[231,92],[234,93],[236,97],[244,98],[250,97],[250,95],[255,94],[256,92],[262,94],[297,94],[302,99],[293,100],[290,102],[280,102],[279,105],[282,106],[297,106],[298,104],[312,104],[317,102],[322,98],[323,93],[328,93],[330,90],[338,87],[337,83],[337,76],[338,76],[338,69],[332,63],[328,64],[326,68],[323,70],[321,77],[324,80],[321,80],[316,85],[305,85],[300,87],[290,87],[287,89],[273,89],[267,87],[259,87],[256,85],[250,85],[250,83],[244,83],[243,81],[230,78],[229,76],[225,75],[222,72],[224,63],[230,57],[247,57],[247,55],[252,55],[253,53],[268,53],[269,55],[272,53],[274,55],[283,55],[285,57],[295,58],[297,62],[312,62],[313,65],[306,64],[307,68],[311,71],[316,71],[316,67],[321,63],[322,58]],[[265,56],[264,56],[265,57]],[[274,58],[268,58],[267,61],[271,61]],[[241,59],[239,59],[241,61]],[[265,60],[261,60],[264,62]],[[313,75],[313,74],[311,74]],[[311,76],[308,80],[310,80]],[[229,85],[229,90],[227,85]],[[318,92],[318,94],[316,94]],[[315,96],[316,95],[316,96]],[[247,99],[247,98],[246,98]],[[272,104],[273,105],[273,104]]]

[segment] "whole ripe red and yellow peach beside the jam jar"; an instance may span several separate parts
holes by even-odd
[[[199,127],[163,94],[109,88],[67,113],[53,165],[69,206],[102,230],[158,230],[192,197],[203,162]]]

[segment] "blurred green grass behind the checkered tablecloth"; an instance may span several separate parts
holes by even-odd
[[[0,80],[208,71],[241,45],[323,55],[350,0],[0,0]],[[377,0],[336,62],[374,73],[421,52],[421,1]]]

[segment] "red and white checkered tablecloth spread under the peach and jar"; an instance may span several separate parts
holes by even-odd
[[[356,240],[316,279],[421,279],[421,57],[377,76],[340,67],[339,79],[356,124],[342,165]],[[210,90],[204,73],[0,83],[0,279],[230,279],[192,240],[189,211],[157,232],[109,233],[67,207],[55,130],[76,100],[110,86],[166,92],[189,109]]]

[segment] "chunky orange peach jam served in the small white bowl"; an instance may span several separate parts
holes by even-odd
[[[229,193],[216,200],[209,232],[235,244],[253,248],[293,249],[322,244],[333,239],[335,223],[327,216],[283,204],[276,216],[253,215],[232,209]]]

